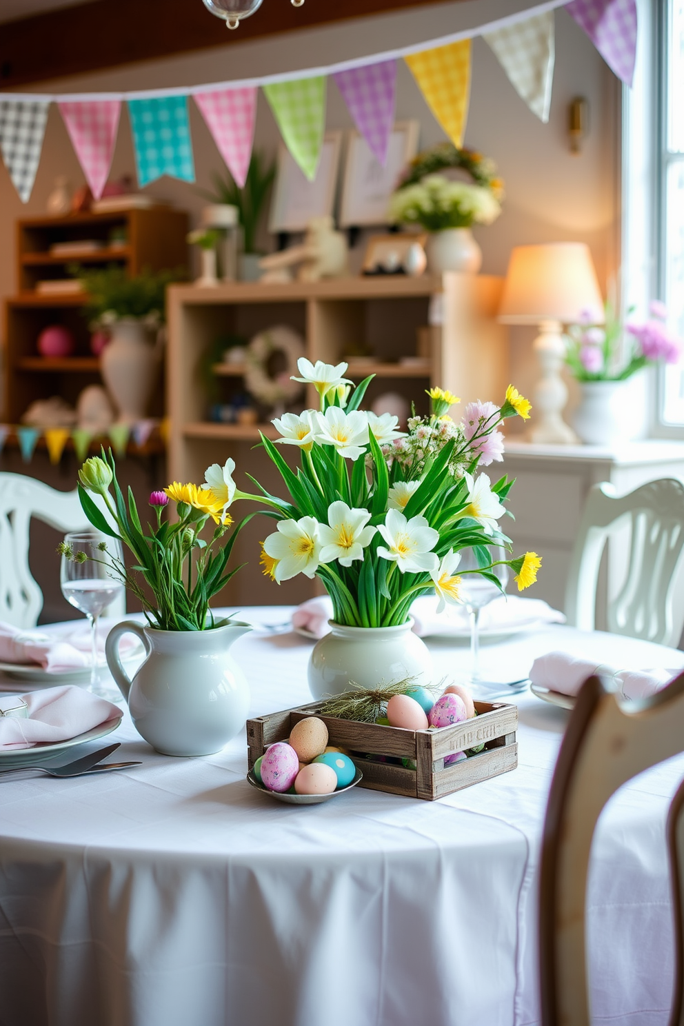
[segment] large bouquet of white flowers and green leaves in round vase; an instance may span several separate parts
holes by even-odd
[[[527,400],[511,386],[501,406],[469,403],[456,424],[448,410],[459,400],[432,389],[431,413],[412,417],[404,433],[396,417],[359,408],[372,374],[353,389],[346,363],[297,366],[296,380],[314,385],[320,408],[275,420],[275,444],[261,435],[290,496],[261,488],[279,521],[261,546],[264,573],[279,584],[298,574],[320,578],[335,622],[356,627],[405,623],[411,602],[431,591],[440,609],[460,602],[464,548],[475,549],[479,573],[498,587],[489,549],[511,550],[498,521],[513,482],[504,476],[492,484],[477,471],[502,459],[497,429],[508,417],[527,419]],[[296,472],[279,444],[299,448]],[[522,590],[536,580],[540,559],[530,552],[501,562]]]

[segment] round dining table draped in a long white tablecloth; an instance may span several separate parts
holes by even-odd
[[[313,642],[281,629],[290,613],[240,610],[255,625],[232,649],[250,716],[311,701]],[[464,640],[429,645],[439,678],[468,675]],[[555,649],[684,667],[684,652],[544,626],[483,644],[481,668],[518,680]],[[107,741],[121,742],[115,759],[139,765],[1,780],[0,1024],[537,1024],[540,838],[570,713],[529,693],[511,701],[517,768],[435,802],[356,787],[285,804],[247,782],[244,731],[215,755],[171,758],[127,715]],[[642,774],[599,822],[588,893],[595,1023],[668,1022],[665,824],[683,777],[684,756]]]

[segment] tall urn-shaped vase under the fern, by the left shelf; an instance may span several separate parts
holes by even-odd
[[[111,330],[112,341],[103,350],[99,369],[119,422],[135,424],[147,417],[159,374],[159,354],[149,341],[146,324],[136,317],[122,317]]]

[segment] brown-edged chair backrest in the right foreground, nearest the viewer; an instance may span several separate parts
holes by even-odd
[[[582,685],[551,784],[541,846],[539,970],[544,1026],[590,1026],[587,876],[601,810],[628,780],[684,750],[684,673],[627,703],[612,682]],[[682,962],[677,962],[681,993]],[[679,1023],[679,1019],[677,1019]]]

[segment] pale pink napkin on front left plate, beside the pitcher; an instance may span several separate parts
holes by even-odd
[[[121,710],[111,702],[71,684],[45,687],[22,698],[29,707],[29,718],[0,717],[0,751],[69,741],[121,718]]]

